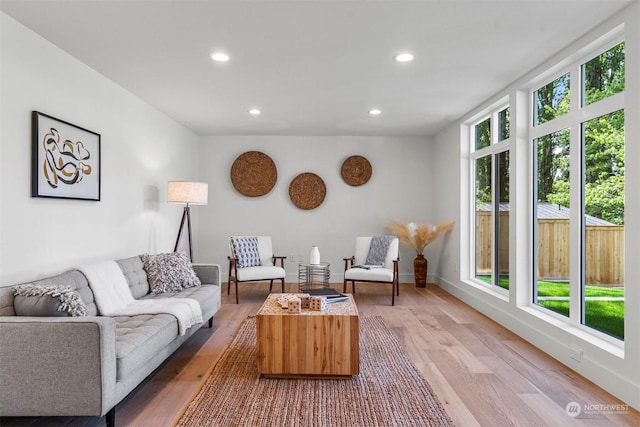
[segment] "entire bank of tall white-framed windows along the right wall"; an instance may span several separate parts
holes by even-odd
[[[619,343],[625,335],[625,44],[604,43],[464,124],[468,202],[462,206],[470,231],[461,274]],[[519,123],[512,123],[508,104],[518,105]],[[514,244],[515,230],[526,244]],[[510,260],[517,260],[517,276]]]

